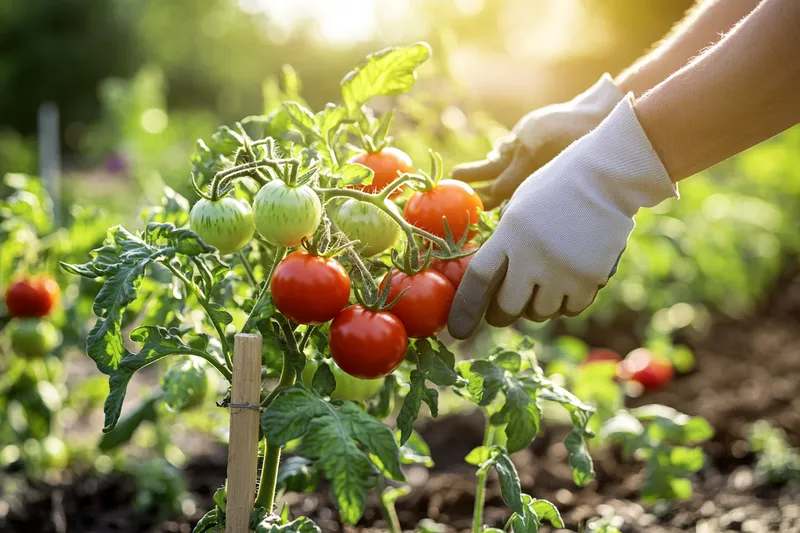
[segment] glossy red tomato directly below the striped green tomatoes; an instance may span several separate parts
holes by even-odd
[[[332,320],[350,299],[350,276],[335,259],[305,251],[287,255],[272,275],[272,301],[298,324]]]

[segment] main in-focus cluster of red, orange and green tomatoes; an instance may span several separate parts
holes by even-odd
[[[368,185],[355,186],[367,193],[385,189],[399,175],[412,172],[411,159],[395,148],[359,154],[349,161],[374,172]],[[392,193],[395,198],[400,190]],[[387,201],[388,209],[396,206]],[[411,225],[446,237],[443,218],[452,235],[474,236],[483,204],[462,182],[440,180],[429,190],[415,191],[406,201],[403,218]],[[310,238],[322,219],[319,195],[306,184],[275,179],[256,195],[253,209],[233,198],[203,199],[190,214],[190,226],[220,253],[242,248],[257,231],[267,242],[293,248]],[[399,211],[397,212],[399,215]],[[373,203],[349,198],[331,216],[336,227],[357,250],[370,257],[394,246],[400,227]],[[377,379],[393,372],[403,361],[409,338],[425,338],[447,324],[456,288],[464,276],[474,246],[452,259],[433,258],[421,270],[394,269],[380,282],[384,302],[350,305],[350,276],[334,258],[313,250],[297,250],[275,268],[271,294],[275,307],[297,324],[320,325],[332,321],[328,335],[331,355],[347,374]],[[390,302],[393,305],[385,305]]]

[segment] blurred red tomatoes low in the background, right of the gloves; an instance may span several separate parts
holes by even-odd
[[[595,348],[584,359],[583,365],[614,363],[617,377],[624,382],[638,383],[646,390],[656,390],[666,386],[675,376],[675,370],[667,357],[637,348],[623,359],[613,350]]]

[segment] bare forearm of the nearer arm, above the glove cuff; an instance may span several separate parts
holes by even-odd
[[[719,43],[636,101],[673,181],[800,122],[800,2],[764,0]]]

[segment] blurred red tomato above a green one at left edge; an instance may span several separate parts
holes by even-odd
[[[42,357],[59,343],[58,330],[47,320],[58,304],[61,291],[50,276],[23,277],[6,289],[6,309],[12,321],[14,353]]]

